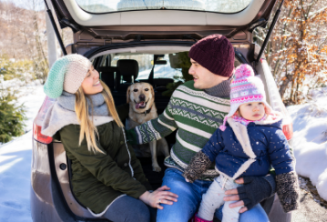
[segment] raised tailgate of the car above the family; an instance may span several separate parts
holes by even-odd
[[[247,4],[236,7],[239,11],[231,12],[226,5],[211,8],[208,3],[200,10],[199,5],[192,7],[179,3],[188,4],[189,1],[170,1],[176,2],[170,6],[160,3],[169,1],[139,1],[153,2],[152,6],[145,7],[128,6],[128,1],[121,0],[116,1],[116,8],[107,11],[101,9],[106,5],[83,5],[82,2],[86,1],[80,0],[51,2],[61,28],[70,27],[75,33],[74,44],[67,48],[67,52],[84,54],[101,45],[151,40],[194,42],[211,34],[225,35],[230,42],[251,43],[252,30],[267,24],[276,0],[233,1]],[[106,2],[115,1],[103,1]]]

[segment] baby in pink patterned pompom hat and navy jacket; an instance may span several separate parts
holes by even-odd
[[[299,184],[290,147],[281,130],[282,116],[266,102],[261,79],[254,76],[249,65],[241,65],[230,88],[230,113],[183,174],[192,183],[213,162],[220,173],[202,197],[195,215],[197,222],[212,221],[216,209],[223,204],[222,222],[239,221],[240,207],[230,208],[232,202],[224,203],[225,191],[240,187],[234,182],[239,177],[267,175],[271,166],[277,175],[277,193],[284,211],[299,205]]]

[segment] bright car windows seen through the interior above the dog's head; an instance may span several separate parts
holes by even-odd
[[[134,59],[138,61],[138,78],[136,80],[148,79],[154,64],[154,55],[114,55],[110,66],[117,66],[119,59]],[[154,66],[154,78],[171,78],[174,81],[182,80],[181,68],[170,66],[169,55],[158,55]]]

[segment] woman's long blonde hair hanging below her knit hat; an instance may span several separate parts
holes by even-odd
[[[101,86],[103,86],[103,90],[101,92],[102,96],[105,98],[105,102],[107,104],[107,109],[109,112],[109,115],[112,116],[117,123],[119,127],[124,127],[124,125],[121,123],[116,106],[114,103],[114,99],[111,95],[110,89],[107,87],[107,85],[100,80]],[[95,154],[96,153],[102,153],[104,154],[104,151],[101,150],[97,146],[97,140],[96,140],[96,135],[98,138],[98,133],[97,133],[97,127],[94,125],[93,120],[90,119],[89,113],[88,113],[88,106],[87,106],[87,98],[89,98],[86,94],[84,94],[84,91],[82,87],[79,87],[77,92],[75,93],[76,100],[75,100],[75,111],[77,113],[77,119],[80,124],[80,132],[79,132],[79,143],[78,145],[80,146],[84,136],[87,138],[87,148],[89,151],[93,151]],[[91,107],[93,110],[92,106],[92,101],[89,99],[91,102]]]

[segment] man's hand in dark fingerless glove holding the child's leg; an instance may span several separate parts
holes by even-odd
[[[230,196],[224,197],[224,200],[239,200],[230,204],[230,208],[243,206],[240,208],[240,213],[251,209],[265,198],[271,197],[271,184],[263,177],[242,177],[235,180],[235,182],[243,184],[243,186],[227,190],[225,194]]]

